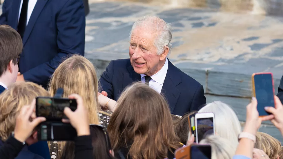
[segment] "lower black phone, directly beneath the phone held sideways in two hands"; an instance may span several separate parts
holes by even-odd
[[[77,131],[71,124],[61,122],[43,122],[38,126],[37,138],[41,141],[72,141]]]

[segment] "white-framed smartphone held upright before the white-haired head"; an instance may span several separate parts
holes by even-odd
[[[197,143],[207,135],[215,135],[214,113],[195,114],[195,131]]]

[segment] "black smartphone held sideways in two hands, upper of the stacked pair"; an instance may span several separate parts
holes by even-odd
[[[64,114],[64,108],[70,107],[72,111],[77,109],[77,101],[75,99],[66,98],[36,98],[36,116],[43,116],[46,120],[60,120],[67,118]]]

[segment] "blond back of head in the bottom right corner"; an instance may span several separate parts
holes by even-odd
[[[263,150],[270,159],[278,158],[279,152],[281,151],[281,143],[276,138],[273,138],[269,134],[263,132],[257,132],[255,137],[256,149]]]

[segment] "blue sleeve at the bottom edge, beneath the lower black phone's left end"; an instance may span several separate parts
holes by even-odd
[[[47,141],[39,141],[35,144],[32,144],[28,147],[28,150],[30,150],[32,153],[35,153],[43,157],[44,159],[51,158]]]

